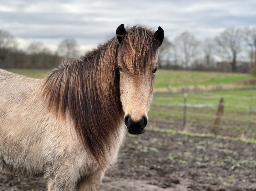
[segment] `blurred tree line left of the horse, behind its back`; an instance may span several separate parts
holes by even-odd
[[[54,68],[63,58],[78,57],[78,44],[74,39],[60,42],[56,52],[41,42],[32,42],[26,50],[17,48],[16,38],[0,30],[0,68]]]

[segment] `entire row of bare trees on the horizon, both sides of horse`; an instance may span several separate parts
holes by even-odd
[[[0,68],[54,68],[63,58],[79,57],[74,39],[63,40],[54,53],[41,42],[32,42],[26,50],[17,47],[16,38],[0,30]],[[165,37],[158,49],[158,67],[256,74],[256,27],[227,28],[201,41],[187,31],[172,41]]]

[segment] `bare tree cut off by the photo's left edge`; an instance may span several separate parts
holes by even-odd
[[[0,30],[0,61],[4,61],[7,53],[17,46],[16,39],[9,32]]]

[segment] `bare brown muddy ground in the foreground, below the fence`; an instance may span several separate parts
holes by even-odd
[[[152,123],[160,128],[168,124]],[[147,130],[127,135],[100,191],[256,190],[256,144]],[[46,190],[43,178],[0,175],[0,190]]]

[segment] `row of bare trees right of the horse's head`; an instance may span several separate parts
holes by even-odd
[[[227,28],[202,41],[183,32],[173,41],[165,38],[158,56],[159,68],[256,74],[256,27]]]

